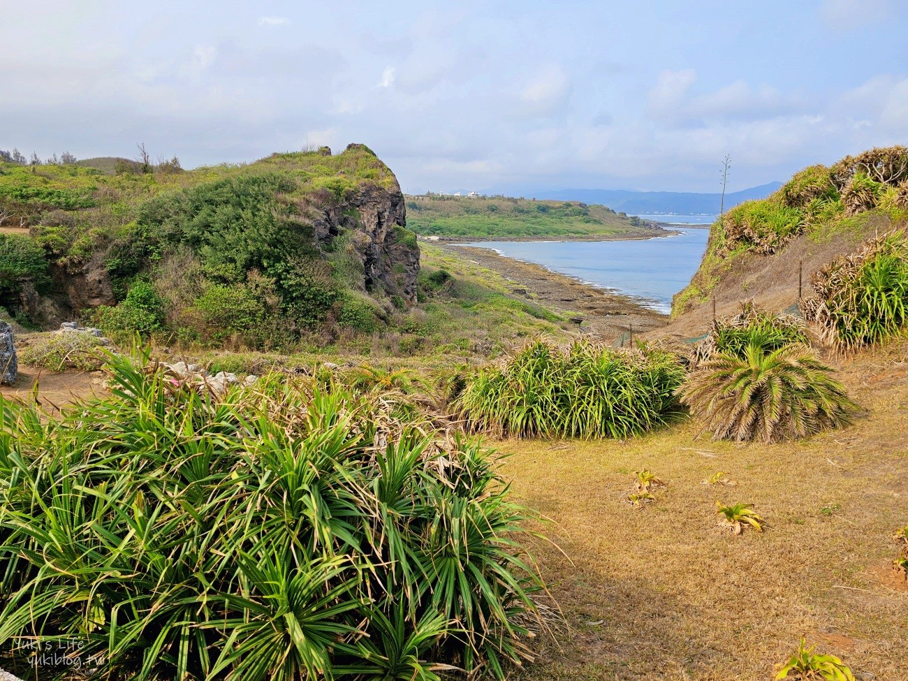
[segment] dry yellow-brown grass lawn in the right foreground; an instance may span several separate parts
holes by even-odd
[[[908,341],[841,377],[867,415],[801,442],[716,443],[695,423],[499,442],[513,489],[567,554],[533,548],[566,630],[512,677],[762,681],[805,637],[858,678],[908,679],[908,587],[892,568],[908,522]],[[667,487],[632,508],[643,468]],[[736,485],[702,484],[719,470]],[[765,532],[720,527],[717,499],[753,503]]]

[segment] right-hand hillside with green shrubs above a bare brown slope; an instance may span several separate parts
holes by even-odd
[[[714,296],[736,301],[779,285],[795,291],[796,298],[799,267],[804,266],[809,286],[814,271],[834,256],[904,222],[905,147],[846,156],[832,167],[810,166],[768,198],[735,206],[716,221],[699,271],[675,296],[673,314],[692,311]],[[772,254],[780,257],[765,258]]]

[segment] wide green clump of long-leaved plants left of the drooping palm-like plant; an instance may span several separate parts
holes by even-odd
[[[627,438],[677,415],[683,377],[676,357],[661,350],[537,340],[480,370],[457,405],[469,429],[497,436]]]

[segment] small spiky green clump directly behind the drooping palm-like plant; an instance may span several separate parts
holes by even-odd
[[[735,316],[713,321],[706,338],[696,344],[691,365],[696,369],[719,353],[743,358],[748,346],[771,352],[791,343],[810,344],[803,321],[794,315],[776,314],[753,301],[745,301]]]

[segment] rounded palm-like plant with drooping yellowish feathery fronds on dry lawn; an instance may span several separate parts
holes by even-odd
[[[688,377],[681,401],[714,439],[774,442],[850,422],[855,409],[832,369],[803,345],[743,357],[720,353]]]

